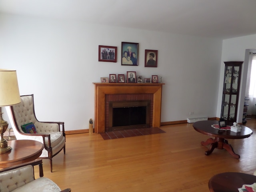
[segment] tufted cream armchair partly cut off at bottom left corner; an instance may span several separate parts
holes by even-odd
[[[34,166],[39,165],[39,178],[35,179]],[[60,190],[56,183],[43,177],[42,159],[19,164],[0,170],[1,192],[71,192],[70,188]]]

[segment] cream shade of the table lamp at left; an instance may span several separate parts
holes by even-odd
[[[0,69],[0,107],[20,103],[16,70]]]

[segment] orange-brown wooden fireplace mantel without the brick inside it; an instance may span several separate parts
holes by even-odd
[[[93,83],[94,84],[94,130],[105,132],[106,94],[153,94],[152,126],[160,127],[162,85],[164,83]]]

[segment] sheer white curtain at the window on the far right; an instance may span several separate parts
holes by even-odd
[[[256,114],[256,55],[252,56],[252,64],[249,66],[250,70],[250,84],[248,91],[248,114]]]

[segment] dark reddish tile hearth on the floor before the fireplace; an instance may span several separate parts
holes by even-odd
[[[121,130],[121,131],[110,131],[105,133],[100,133],[104,140],[107,139],[117,139],[117,138],[125,138],[125,137],[134,137],[141,135],[150,135],[150,134],[158,134],[165,133],[165,131],[160,128],[141,128],[141,129],[129,129],[129,130]]]

